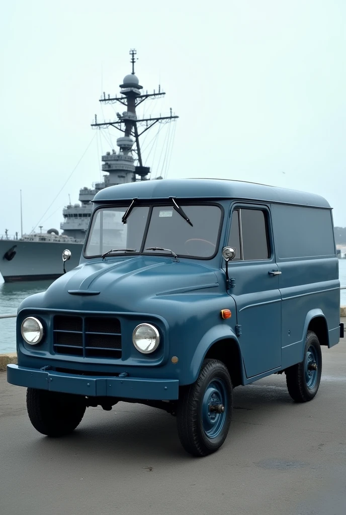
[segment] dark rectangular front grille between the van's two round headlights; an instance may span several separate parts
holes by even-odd
[[[122,335],[117,318],[56,315],[53,332],[57,354],[121,357]]]

